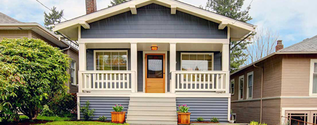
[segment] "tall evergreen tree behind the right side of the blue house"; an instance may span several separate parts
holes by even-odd
[[[216,12],[218,14],[234,18],[243,22],[252,19],[249,16],[250,5],[245,10],[241,10],[244,0],[208,0],[206,9]],[[235,23],[235,22],[232,22]],[[234,72],[239,69],[241,65],[247,60],[247,54],[244,53],[244,49],[247,49],[250,41],[243,41],[240,44],[238,41],[231,41],[230,45],[230,71]],[[236,46],[235,46],[236,45]],[[235,46],[234,48],[232,48]]]

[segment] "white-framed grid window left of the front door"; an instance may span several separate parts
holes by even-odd
[[[95,50],[95,70],[127,70],[127,50]]]

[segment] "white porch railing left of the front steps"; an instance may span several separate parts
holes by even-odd
[[[79,92],[91,90],[124,90],[135,92],[135,71],[79,71]]]

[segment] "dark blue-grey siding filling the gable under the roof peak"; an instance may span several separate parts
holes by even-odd
[[[227,38],[227,27],[155,3],[89,23],[81,38]]]

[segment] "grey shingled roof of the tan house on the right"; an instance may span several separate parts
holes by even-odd
[[[317,35],[304,39],[303,41],[279,50],[282,51],[317,51]]]

